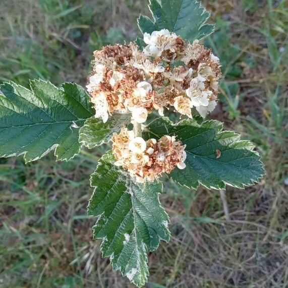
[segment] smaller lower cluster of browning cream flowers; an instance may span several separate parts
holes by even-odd
[[[123,128],[112,137],[112,152],[115,164],[122,166],[136,177],[136,182],[153,182],[163,173],[170,173],[176,166],[184,169],[185,145],[175,136],[163,136],[158,141],[135,137],[133,131]]]

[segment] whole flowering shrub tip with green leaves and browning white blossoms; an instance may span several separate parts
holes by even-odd
[[[29,162],[54,150],[69,160],[82,146],[111,142],[91,175],[88,214],[103,257],[137,286],[147,281],[147,252],[169,241],[163,174],[192,189],[244,188],[264,174],[252,143],[203,121],[221,77],[219,59],[200,42],[213,32],[209,13],[195,0],[150,0],[149,8],[153,19],[138,19],[143,39],[94,52],[89,94],[74,83],[0,85],[0,157]],[[163,117],[169,111],[183,120]]]

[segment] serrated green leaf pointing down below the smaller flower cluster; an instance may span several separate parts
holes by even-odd
[[[91,175],[96,187],[88,214],[99,216],[94,238],[102,239],[102,256],[110,256],[113,269],[120,270],[137,286],[147,281],[147,252],[160,240],[169,241],[168,215],[160,206],[160,183],[134,183],[128,172],[113,164],[108,151]]]

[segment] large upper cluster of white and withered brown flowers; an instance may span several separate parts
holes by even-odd
[[[96,118],[106,122],[114,111],[131,112],[144,123],[152,109],[162,116],[170,106],[190,118],[195,107],[204,118],[215,108],[221,73],[211,49],[166,29],[145,33],[144,41],[143,51],[132,42],[94,52],[87,90]]]

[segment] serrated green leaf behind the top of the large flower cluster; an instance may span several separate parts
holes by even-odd
[[[138,18],[138,26],[143,34],[168,29],[193,42],[214,31],[214,25],[206,23],[210,13],[198,1],[150,0],[149,8],[153,21],[142,15]]]

